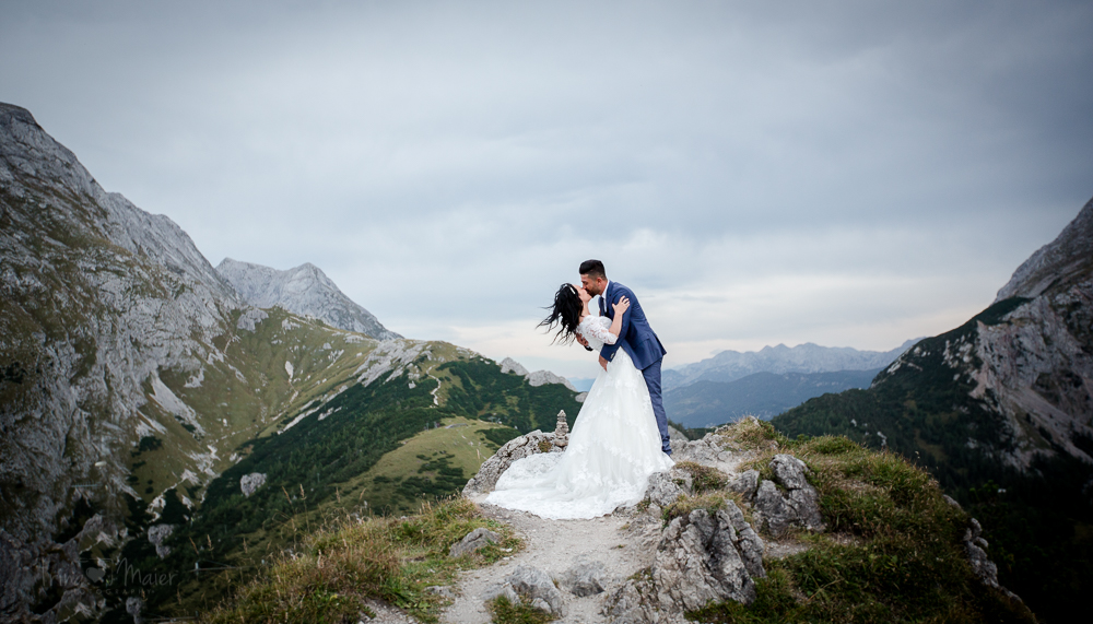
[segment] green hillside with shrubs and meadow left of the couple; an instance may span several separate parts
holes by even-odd
[[[294,552],[303,535],[322,527],[406,514],[456,493],[500,444],[531,427],[553,429],[561,409],[572,422],[580,407],[563,386],[530,387],[445,343],[403,341],[353,355],[330,343],[326,356],[314,349],[301,356],[307,350],[293,349],[299,344],[286,338],[281,340],[287,346],[249,348],[257,357],[268,350],[265,361],[273,372],[284,369],[281,357],[297,356],[292,378],[285,373],[273,381],[280,374],[271,372],[266,390],[282,398],[272,407],[291,408],[259,420],[260,435],[230,447],[235,462],[203,490],[190,485],[164,494],[157,522],[175,526],[164,541],[171,554],[158,558],[145,539],[120,553],[102,553],[115,566],[125,561],[142,569],[186,570],[174,582],[139,588],[155,613],[211,609],[263,561]],[[239,343],[247,348],[245,339]],[[357,380],[367,377],[371,382]],[[156,447],[144,455],[162,452]],[[240,480],[251,473],[263,474],[266,484],[248,497]],[[188,509],[180,495],[200,505]],[[153,523],[145,505],[131,501],[136,534]],[[110,579],[120,580],[114,572]],[[119,599],[132,590],[125,584],[110,588],[119,608],[107,621],[126,619]]]

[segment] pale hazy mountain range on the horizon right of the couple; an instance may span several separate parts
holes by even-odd
[[[695,381],[736,381],[755,373],[834,373],[870,370],[891,364],[917,340],[908,340],[892,351],[858,351],[849,346],[820,346],[807,342],[797,346],[764,346],[760,351],[722,351],[717,355],[663,372],[663,388],[690,386]]]

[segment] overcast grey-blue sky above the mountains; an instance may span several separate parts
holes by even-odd
[[[667,366],[889,350],[1093,196],[1090,2],[4,0],[0,101],[213,264],[313,262],[390,329],[534,330],[599,258]]]

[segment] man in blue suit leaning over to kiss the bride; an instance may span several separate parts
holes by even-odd
[[[653,413],[657,416],[657,428],[660,429],[660,448],[667,455],[672,454],[672,446],[668,437],[668,416],[665,415],[665,401],[660,395],[660,364],[665,360],[665,348],[660,344],[660,339],[653,332],[649,321],[645,318],[642,304],[637,303],[634,291],[626,286],[609,282],[603,262],[599,260],[585,260],[580,263],[580,285],[590,295],[600,296],[600,316],[614,319],[613,304],[626,297],[630,299],[630,309],[622,315],[622,330],[619,332],[619,341],[614,344],[604,344],[600,350],[600,366],[607,370],[608,362],[614,357],[615,352],[621,346],[623,351],[634,361],[642,375],[645,376],[645,385],[649,387],[649,398],[653,399]]]

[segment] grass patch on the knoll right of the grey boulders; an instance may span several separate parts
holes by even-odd
[[[845,439],[845,438],[844,438]],[[709,604],[702,622],[1034,622],[1023,604],[975,578],[964,551],[971,518],[925,470],[891,452],[821,436],[792,443],[820,494],[830,533],[765,562],[750,607]],[[760,440],[763,444],[763,439]],[[762,448],[762,447],[761,447]],[[765,468],[777,449],[752,462]],[[681,508],[696,507],[693,502]],[[683,509],[681,509],[683,510]],[[847,539],[853,537],[853,539]]]

